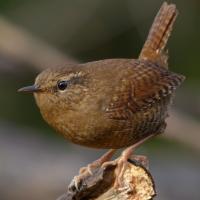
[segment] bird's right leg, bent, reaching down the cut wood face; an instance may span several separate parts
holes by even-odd
[[[147,136],[146,138],[144,138],[144,139],[140,140],[139,142],[135,143],[134,145],[126,148],[122,152],[120,158],[117,160],[116,179],[115,179],[115,183],[114,183],[114,187],[115,188],[119,188],[120,186],[122,186],[122,179],[123,179],[124,171],[126,170],[126,167],[127,167],[127,164],[128,164],[128,159],[133,154],[133,151],[138,146],[140,146],[146,140],[148,140],[149,138],[151,138],[153,136],[154,135]]]

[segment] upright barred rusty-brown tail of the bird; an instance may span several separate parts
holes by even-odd
[[[168,67],[168,55],[164,49],[177,15],[178,10],[174,4],[168,5],[166,2],[162,4],[151,26],[139,59],[149,60],[163,67]]]

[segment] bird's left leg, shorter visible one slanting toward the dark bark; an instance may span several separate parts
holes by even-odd
[[[82,167],[79,170],[79,173],[82,174],[87,171],[92,175],[92,169],[101,167],[105,162],[109,161],[112,158],[116,151],[117,149],[110,149],[105,154],[103,154],[103,156],[101,156],[98,160],[95,160],[94,162],[90,163],[87,167]]]

